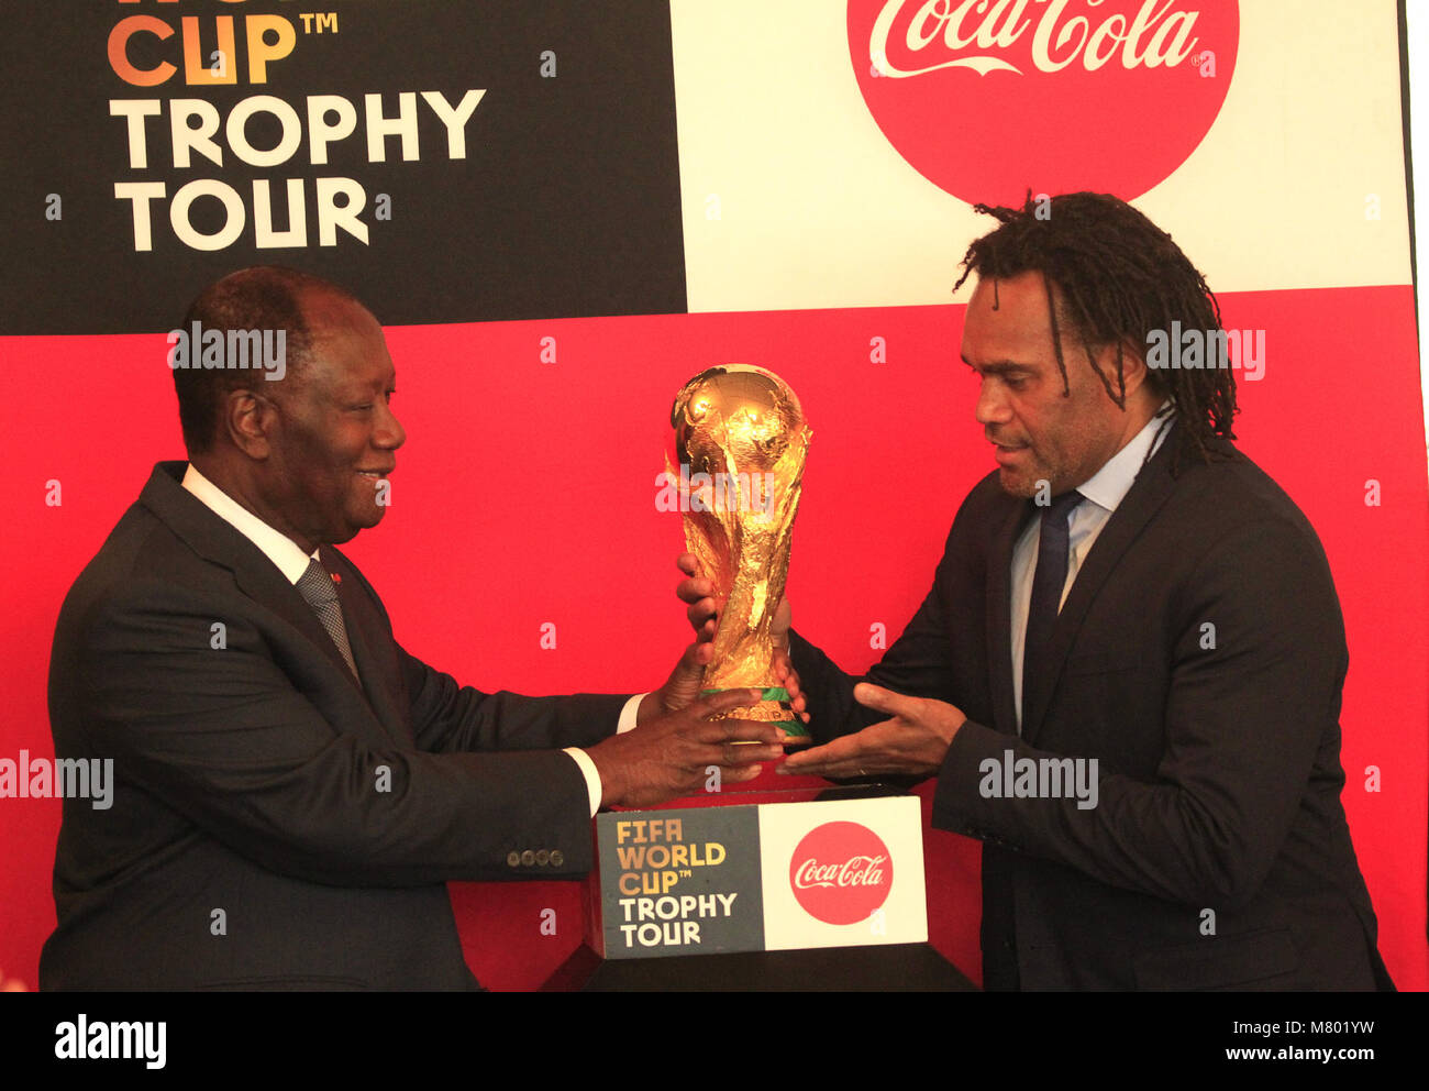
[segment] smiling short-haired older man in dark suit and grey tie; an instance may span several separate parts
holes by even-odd
[[[56,755],[113,758],[116,786],[64,801],[43,988],[470,988],[446,881],[580,875],[599,806],[782,754],[707,719],[755,695],[696,701],[694,645],[643,699],[480,693],[404,652],[333,548],[382,519],[404,440],[377,320],[252,269],[193,323],[282,329],[283,377],[176,366],[189,463],[154,468],[64,601]]]

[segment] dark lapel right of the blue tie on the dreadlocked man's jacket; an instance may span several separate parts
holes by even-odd
[[[1046,673],[1042,678],[1023,679],[1022,738],[1029,745],[1036,744],[1042,731],[1047,702],[1062,676],[1067,652],[1082,631],[1087,609],[1090,609],[1102,585],[1116,569],[1122,555],[1130,549],[1142,529],[1160,510],[1176,488],[1176,479],[1170,476],[1170,462],[1173,445],[1179,439],[1176,428],[1172,426],[1160,450],[1136,475],[1132,488],[1127,489],[1126,496],[1106,520],[1106,526],[1102,528],[1102,533],[1097,535],[1092,551],[1077,571],[1072,591],[1062,605],[1056,626],[1052,629]]]

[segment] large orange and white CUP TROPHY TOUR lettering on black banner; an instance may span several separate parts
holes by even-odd
[[[223,250],[244,237],[256,249],[270,250],[309,246],[310,223],[319,246],[337,246],[340,235],[366,246],[370,223],[364,214],[392,219],[389,194],[369,202],[366,186],[346,174],[256,177],[233,184],[211,176],[184,180],[184,172],[214,174],[226,167],[242,170],[239,164],[269,169],[294,160],[320,167],[327,164],[329,150],[346,140],[364,142],[367,163],[383,163],[393,150],[404,162],[420,160],[423,116],[444,130],[447,159],[466,159],[466,126],[484,89],[452,96],[440,90],[372,92],[360,100],[307,94],[289,102],[250,94],[221,112],[196,96],[196,89],[204,87],[262,87],[272,66],[300,53],[303,39],[339,34],[337,11],[296,13],[294,23],[270,13],[180,14],[194,7],[181,0],[116,3],[120,10],[149,10],[124,14],[110,30],[110,69],[131,87],[164,87],[164,97],[109,100],[110,116],[123,127],[130,170],[114,183],[114,199],[130,204],[136,252],[154,249],[156,229],[166,220],[173,239],[193,250]],[[373,13],[344,11],[343,17]],[[250,139],[250,123],[260,139]],[[157,172],[167,177],[153,177]]]

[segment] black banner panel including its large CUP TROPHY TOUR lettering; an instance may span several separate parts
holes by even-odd
[[[686,309],[666,4],[9,3],[3,333],[249,265],[389,325]]]

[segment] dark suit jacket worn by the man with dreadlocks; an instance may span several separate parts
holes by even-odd
[[[1183,455],[1172,476],[1177,430],[1077,572],[1020,738],[1010,561],[1035,508],[996,473],[869,681],[969,718],[933,824],[983,841],[989,988],[1389,987],[1339,798],[1348,652],[1325,552],[1229,443],[1228,460]],[[793,661],[817,738],[882,718],[797,636]],[[1002,782],[1007,751],[1096,758],[1096,806],[985,798],[985,762]]]

